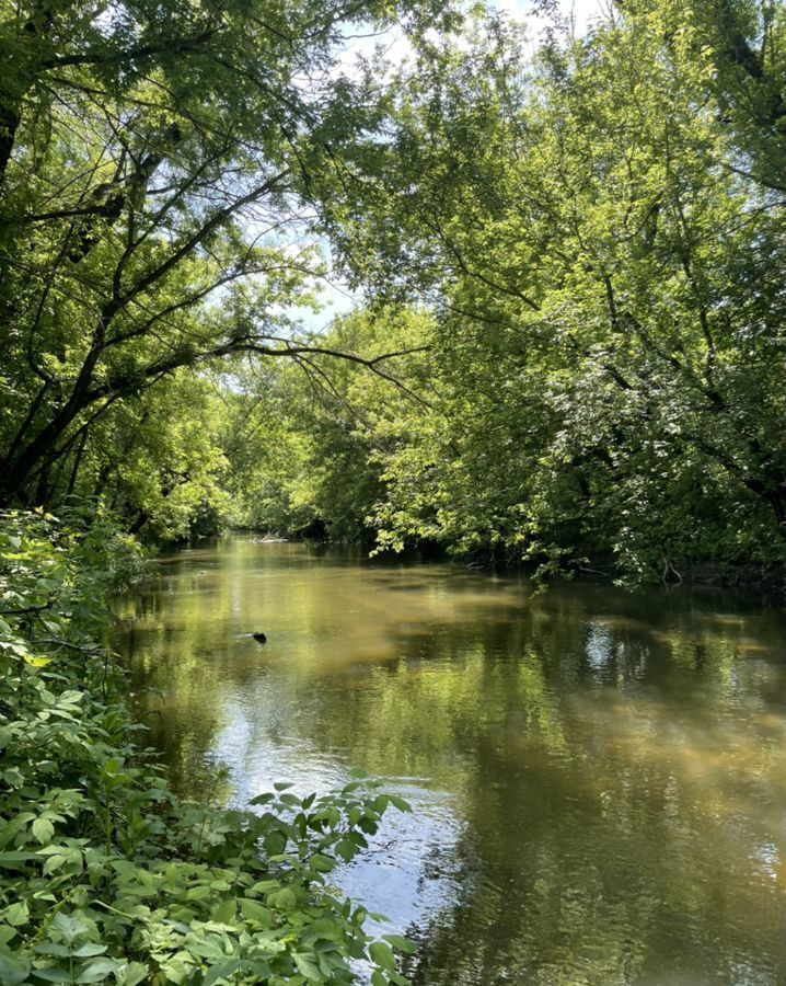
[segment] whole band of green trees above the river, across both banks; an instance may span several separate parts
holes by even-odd
[[[393,22],[397,69],[337,67]],[[5,502],[634,578],[783,561],[781,5],[626,0],[534,51],[414,0],[1,31]],[[328,253],[368,309],[314,334]]]

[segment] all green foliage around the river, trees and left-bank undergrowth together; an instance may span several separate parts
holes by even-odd
[[[0,45],[0,979],[401,982],[326,883],[388,799],[178,803],[104,600],[228,521],[783,571],[786,8],[533,51],[437,0],[21,0]],[[315,333],[328,255],[368,305]]]

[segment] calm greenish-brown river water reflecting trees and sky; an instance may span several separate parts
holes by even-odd
[[[175,786],[403,793],[340,881],[415,983],[786,983],[783,611],[242,537],[160,572],[116,645]]]

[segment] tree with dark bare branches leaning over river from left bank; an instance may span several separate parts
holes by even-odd
[[[391,16],[413,26],[429,12],[375,0],[4,9],[3,502],[50,498],[82,435],[178,367],[314,349],[282,314],[320,273],[302,243],[311,173],[369,124],[336,53],[348,25]]]

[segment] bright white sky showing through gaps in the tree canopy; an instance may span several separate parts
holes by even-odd
[[[546,21],[532,12],[532,0],[489,0],[490,5],[507,13],[511,20],[524,21],[530,27],[533,41],[546,26]],[[609,0],[560,0],[564,14],[571,16],[577,35],[583,34],[593,19],[608,12]],[[339,65],[340,71],[351,74],[359,56],[369,56],[379,44],[385,46],[388,59],[393,65],[404,61],[409,54],[409,46],[401,31],[391,31],[384,37],[357,37],[346,47]],[[302,321],[308,329],[319,332],[325,329],[338,316],[346,314],[362,303],[359,294],[352,294],[338,277],[328,277],[320,286],[322,309],[313,312],[307,308],[291,309],[289,314]]]

